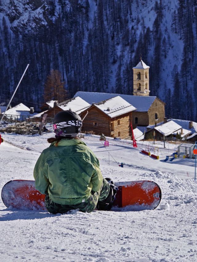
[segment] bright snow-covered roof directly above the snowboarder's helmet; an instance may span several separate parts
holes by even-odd
[[[71,110],[77,114],[80,114],[83,110],[90,107],[90,104],[83,100],[81,97],[77,96],[64,102],[58,103],[57,106],[60,107],[62,110]]]

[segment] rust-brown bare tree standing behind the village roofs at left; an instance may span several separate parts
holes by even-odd
[[[44,101],[55,100],[63,102],[66,100],[66,93],[60,72],[58,70],[51,70],[44,85]]]

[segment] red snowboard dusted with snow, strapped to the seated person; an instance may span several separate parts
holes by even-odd
[[[161,201],[161,189],[153,181],[139,180],[117,182],[118,191],[113,206],[125,207],[129,210],[153,210]],[[46,210],[45,195],[35,189],[35,181],[11,180],[1,192],[6,207],[13,206],[22,210]]]

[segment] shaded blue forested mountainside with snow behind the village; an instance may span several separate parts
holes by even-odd
[[[132,94],[132,67],[142,56],[150,95],[167,103],[169,117],[195,120],[196,10],[186,0],[1,0],[0,102],[27,63],[15,102],[39,108],[51,69],[71,97],[77,90]]]

